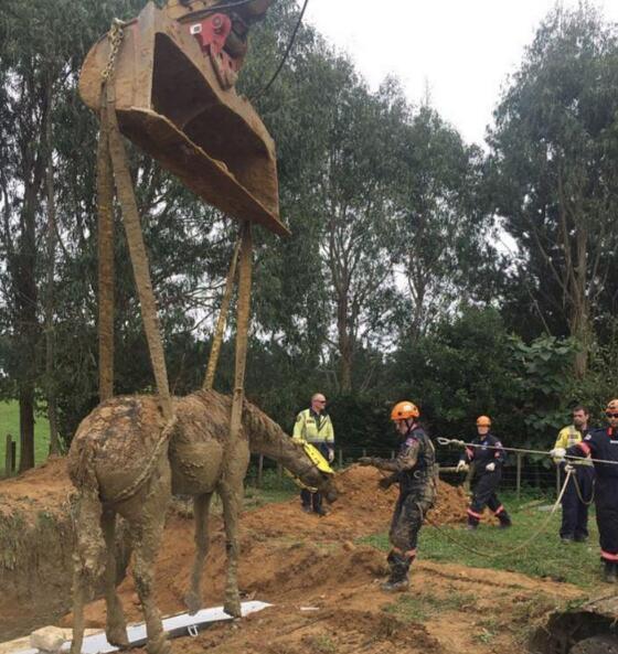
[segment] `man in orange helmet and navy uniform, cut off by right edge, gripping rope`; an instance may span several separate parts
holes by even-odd
[[[618,578],[618,399],[612,399],[605,415],[609,424],[595,429],[569,448],[554,448],[557,459],[589,457],[615,463],[594,463],[595,506],[599,529],[600,558],[605,564],[604,579],[614,583]]]

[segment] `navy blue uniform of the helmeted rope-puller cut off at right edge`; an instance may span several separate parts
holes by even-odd
[[[568,448],[567,455],[615,461],[595,463],[595,505],[599,528],[600,557],[606,562],[618,562],[618,433],[611,427],[595,429],[582,442]]]

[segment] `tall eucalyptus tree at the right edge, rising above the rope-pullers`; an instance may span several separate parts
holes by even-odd
[[[615,296],[618,245],[618,43],[587,3],[554,9],[496,110],[493,201],[521,253],[519,281],[546,329],[580,344]]]

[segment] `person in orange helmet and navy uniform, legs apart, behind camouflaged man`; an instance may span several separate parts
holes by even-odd
[[[505,453],[502,443],[489,432],[490,427],[491,419],[488,416],[477,418],[478,436],[472,440],[472,444],[478,447],[467,447],[457,464],[458,472],[468,470],[469,463],[473,464],[472,501],[468,508],[468,529],[476,529],[479,526],[486,506],[489,506],[489,510],[500,521],[501,528],[510,527],[512,524],[507,510],[496,494],[502,476]]]

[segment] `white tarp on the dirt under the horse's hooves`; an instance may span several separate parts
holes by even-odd
[[[266,602],[243,602],[241,608],[243,610],[243,618],[249,613],[262,611],[270,607]],[[232,620],[227,613],[223,611],[223,607],[213,607],[212,609],[202,609],[194,615],[189,613],[180,613],[171,618],[163,619],[163,629],[170,636],[185,636],[196,635],[210,622],[220,622],[222,620]],[[132,624],[127,628],[127,635],[131,646],[137,647],[146,643],[146,624]],[[67,641],[62,646],[62,652],[68,652],[71,641]],[[118,652],[118,647],[110,645],[105,637],[105,632],[96,633],[84,637],[82,646],[82,654],[107,654],[107,652]],[[39,650],[20,650],[14,654],[39,654]]]

